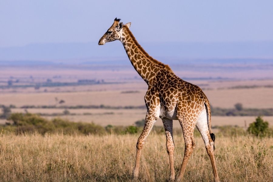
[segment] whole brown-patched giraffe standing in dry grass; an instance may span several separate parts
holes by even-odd
[[[136,143],[133,178],[137,179],[139,176],[140,154],[144,141],[160,117],[166,134],[170,180],[175,180],[173,120],[178,120],[183,131],[185,151],[176,180],[182,180],[188,160],[195,148],[193,133],[194,126],[196,126],[201,133],[211,160],[214,181],[220,181],[214,157],[215,136],[211,131],[211,109],[207,97],[198,86],[180,79],[168,65],[149,56],[136,41],[129,29],[130,25],[131,23],[123,25],[120,19],[116,18],[113,25],[99,39],[99,45],[120,40],[134,69],[148,85],[147,93],[144,96],[147,113],[143,130]]]

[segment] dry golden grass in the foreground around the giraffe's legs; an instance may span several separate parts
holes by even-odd
[[[131,181],[137,135],[0,136],[2,181]],[[183,154],[182,136],[174,136],[175,170]],[[184,181],[213,181],[200,137]],[[153,134],[143,148],[139,181],[167,181],[165,136]],[[217,137],[216,162],[221,181],[272,181],[273,138]]]

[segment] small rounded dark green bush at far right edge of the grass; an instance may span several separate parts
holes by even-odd
[[[249,124],[247,131],[255,136],[264,137],[269,131],[268,122],[264,121],[261,116],[258,116],[255,122]]]

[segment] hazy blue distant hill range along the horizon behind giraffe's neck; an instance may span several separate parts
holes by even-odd
[[[143,48],[155,59],[230,59],[259,58],[273,59],[273,41],[268,42],[155,42],[141,43]],[[0,48],[0,61],[41,60],[58,62],[86,62],[92,60],[127,59],[119,41],[99,46],[97,42],[89,43],[46,43],[30,44],[22,47]],[[162,60],[163,61],[163,60]],[[168,60],[166,60],[168,62]],[[164,61],[163,61],[164,62]]]

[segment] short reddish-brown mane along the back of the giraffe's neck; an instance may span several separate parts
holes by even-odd
[[[130,31],[130,29],[126,26],[123,26],[123,29],[125,28],[126,33],[130,36],[130,38],[133,40],[133,42],[135,42],[137,48],[143,53],[143,55],[150,60],[150,62],[152,62],[153,64],[155,64],[156,66],[162,68],[162,69],[166,69],[167,71],[173,72],[173,70],[170,68],[169,65],[163,64],[160,61],[157,61],[156,59],[153,59],[153,57],[151,57],[142,47],[141,45],[137,42],[136,38],[134,37],[133,33]]]

